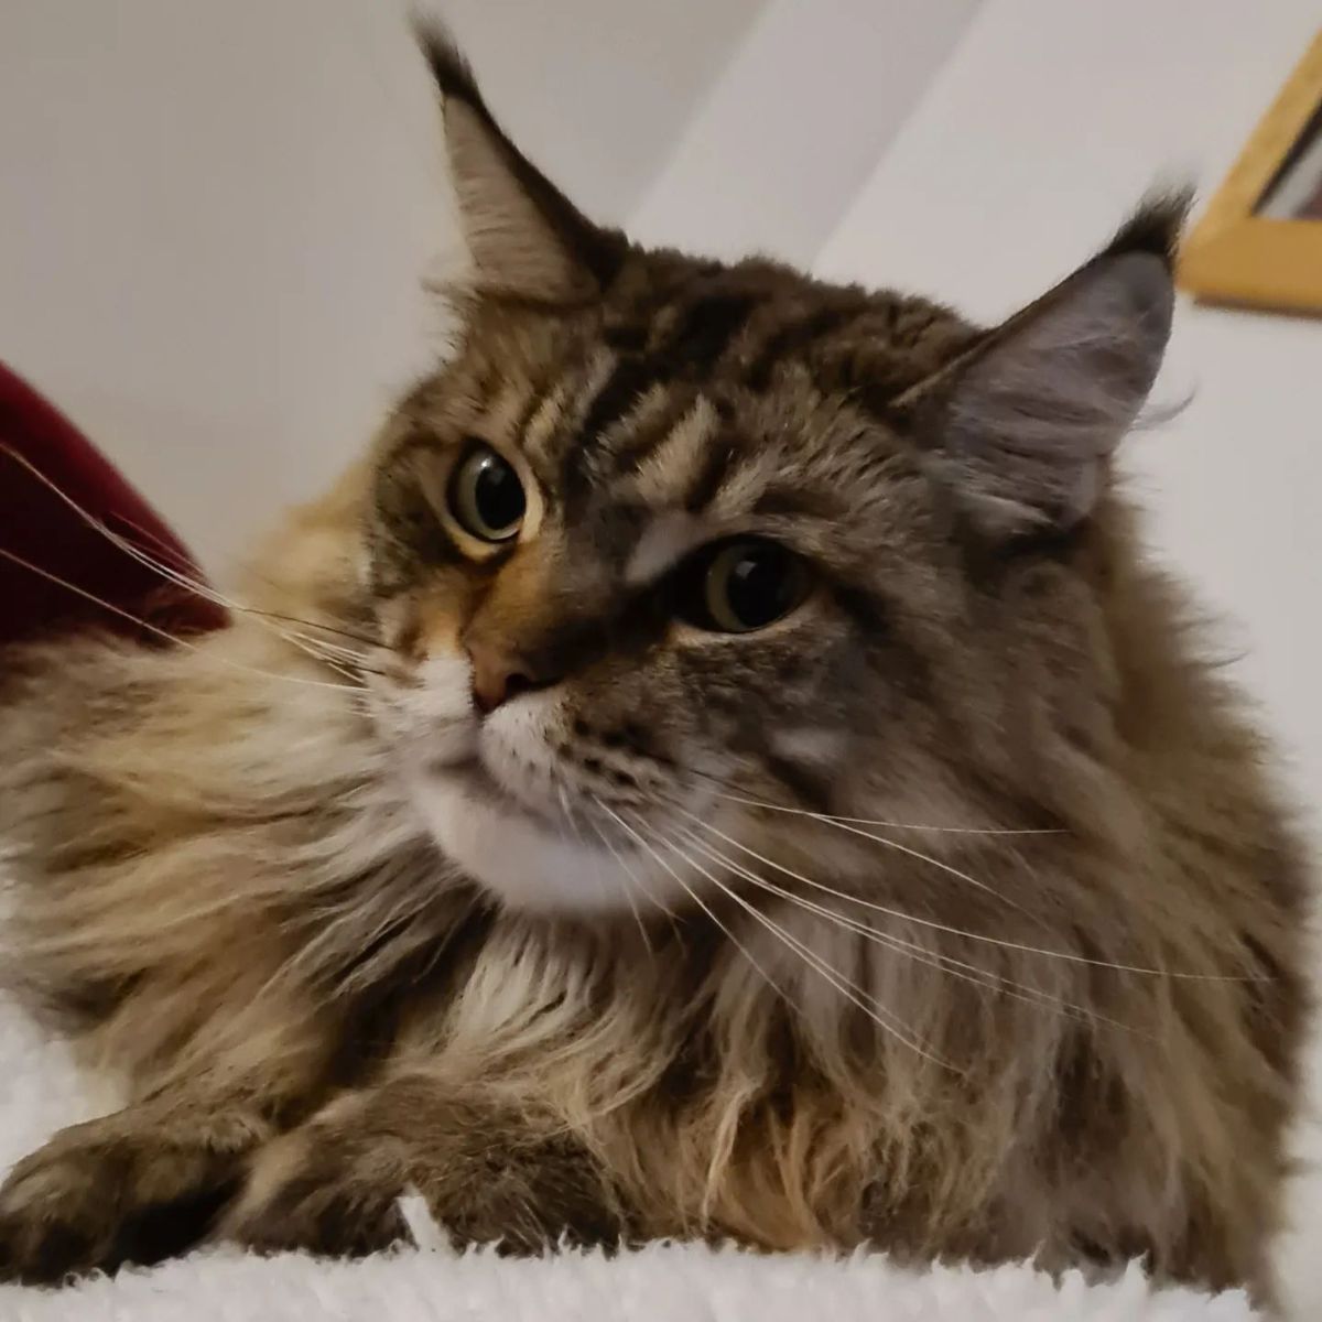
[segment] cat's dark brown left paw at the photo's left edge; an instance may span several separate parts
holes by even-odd
[[[243,1118],[119,1112],[61,1130],[0,1187],[0,1281],[156,1263],[206,1231],[263,1137]]]

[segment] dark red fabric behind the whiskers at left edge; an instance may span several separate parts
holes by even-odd
[[[163,641],[89,596],[168,633],[225,623],[223,611],[171,586],[89,526],[25,463],[115,533],[201,579],[182,542],[91,442],[0,364],[0,645],[87,627]]]

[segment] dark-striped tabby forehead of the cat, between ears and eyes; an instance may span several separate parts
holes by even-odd
[[[558,521],[628,533],[644,564],[722,529],[847,524],[896,457],[888,403],[973,333],[769,262],[639,254],[591,305],[477,308],[419,405],[517,449]]]

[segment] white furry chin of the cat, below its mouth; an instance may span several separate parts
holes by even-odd
[[[607,915],[669,908],[680,882],[646,854],[578,838],[518,801],[479,761],[432,767],[410,793],[442,853],[510,908]]]

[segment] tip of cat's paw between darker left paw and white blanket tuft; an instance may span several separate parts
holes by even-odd
[[[337,1137],[309,1126],[258,1153],[217,1237],[258,1253],[328,1257],[364,1257],[408,1240],[398,1154],[389,1142],[362,1147]]]

